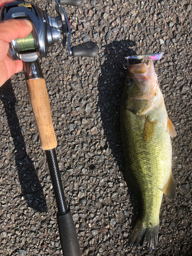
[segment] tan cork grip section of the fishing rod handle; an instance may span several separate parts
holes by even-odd
[[[42,150],[51,150],[57,146],[57,140],[51,117],[51,108],[45,79],[29,79],[26,82],[39,133],[40,146]]]

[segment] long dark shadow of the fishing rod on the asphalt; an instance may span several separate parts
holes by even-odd
[[[12,162],[15,162],[15,169],[18,173],[18,179],[22,189],[20,197],[24,197],[28,206],[32,209],[38,212],[47,212],[48,208],[46,199],[44,197],[44,192],[38,179],[34,163],[27,155],[26,144],[15,109],[17,107],[17,100],[10,80],[0,88],[0,97],[4,105],[7,122],[14,143],[14,148],[11,148],[12,152],[10,152],[10,158],[14,158],[11,160]],[[8,175],[11,176],[12,172],[14,172],[13,169],[11,172],[8,170]]]

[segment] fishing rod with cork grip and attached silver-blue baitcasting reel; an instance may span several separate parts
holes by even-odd
[[[28,19],[33,25],[33,30],[27,37],[15,39],[10,43],[9,51],[13,60],[24,61],[29,99],[37,124],[40,146],[46,152],[57,204],[57,222],[63,256],[80,256],[81,252],[62,187],[49,96],[38,58],[46,57],[49,48],[61,41],[63,47],[68,45],[69,54],[74,57],[95,57],[98,54],[98,46],[95,42],[86,42],[74,47],[70,45],[70,23],[61,5],[80,6],[81,4],[82,0],[56,0],[55,8],[58,16],[55,18],[31,3],[17,1],[4,6],[0,16],[0,21],[12,18]]]

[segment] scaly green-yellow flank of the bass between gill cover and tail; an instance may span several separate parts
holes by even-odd
[[[145,222],[159,224],[159,208],[163,196],[159,188],[165,186],[171,172],[172,146],[167,132],[167,121],[157,124],[153,139],[146,143],[142,140],[145,120],[129,110],[122,111],[121,116],[125,158],[132,170],[129,175],[132,175],[141,193],[143,218],[145,217]],[[133,129],[134,126],[140,129]],[[151,205],[154,207],[150,210]]]

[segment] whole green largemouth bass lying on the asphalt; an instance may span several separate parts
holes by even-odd
[[[160,91],[153,60],[131,65],[123,89],[121,139],[127,185],[136,190],[141,212],[129,239],[130,246],[156,248],[163,193],[176,198],[172,174],[172,144],[176,136]]]

